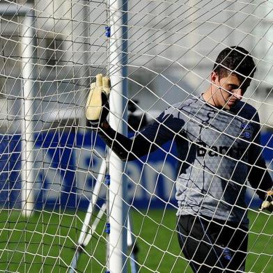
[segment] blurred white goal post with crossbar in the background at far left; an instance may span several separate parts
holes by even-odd
[[[21,59],[22,59],[22,210],[26,217],[29,217],[33,208],[33,193],[31,189],[34,182],[33,174],[33,89],[35,88],[35,44],[36,35],[33,29],[35,20],[34,11],[31,6],[18,6],[8,3],[0,4],[1,16],[20,16],[22,20],[22,29],[20,31]]]

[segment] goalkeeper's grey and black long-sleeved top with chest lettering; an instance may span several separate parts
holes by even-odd
[[[247,180],[261,199],[272,188],[260,146],[256,109],[237,102],[217,109],[203,97],[174,104],[129,139],[109,128],[100,132],[122,160],[132,160],[176,141],[178,214],[195,214],[247,226]]]

